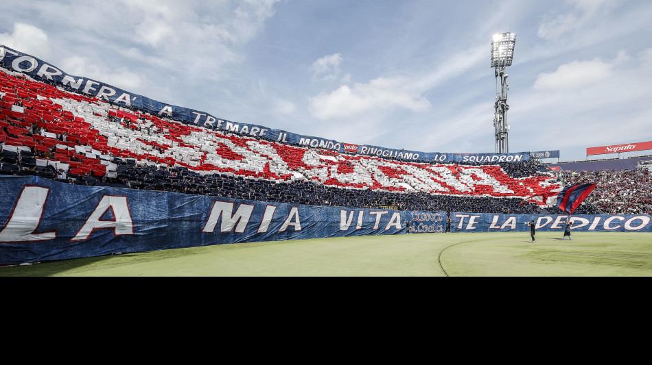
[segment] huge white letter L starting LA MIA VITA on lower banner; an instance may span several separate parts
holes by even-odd
[[[5,227],[0,231],[0,242],[32,242],[53,240],[56,231],[34,233],[43,218],[48,188],[25,186],[16,201]]]

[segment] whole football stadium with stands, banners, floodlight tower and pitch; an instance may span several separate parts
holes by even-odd
[[[231,121],[0,45],[0,276],[652,275],[652,141],[509,151],[515,39],[491,38],[496,151],[467,153]]]

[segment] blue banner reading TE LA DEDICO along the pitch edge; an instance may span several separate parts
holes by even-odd
[[[500,232],[530,231],[527,223],[534,221],[537,231],[560,231],[566,227],[568,214],[489,214],[489,213],[451,213],[452,232]],[[633,215],[588,215],[572,214],[572,231],[580,232],[650,232],[652,216]]]

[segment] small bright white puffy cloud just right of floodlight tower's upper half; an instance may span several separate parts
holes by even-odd
[[[613,62],[603,62],[595,58],[592,61],[573,61],[563,64],[555,72],[539,74],[533,88],[535,90],[582,89],[612,77],[614,68],[627,59],[629,56],[620,52]]]

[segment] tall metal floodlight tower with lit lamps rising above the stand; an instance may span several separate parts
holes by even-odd
[[[491,67],[496,70],[496,103],[493,105],[493,127],[496,130],[496,153],[509,152],[509,142],[507,141],[507,73],[505,69],[511,66],[514,57],[514,45],[516,43],[516,34],[498,33],[491,37]],[[500,92],[498,91],[498,79],[500,79]]]

